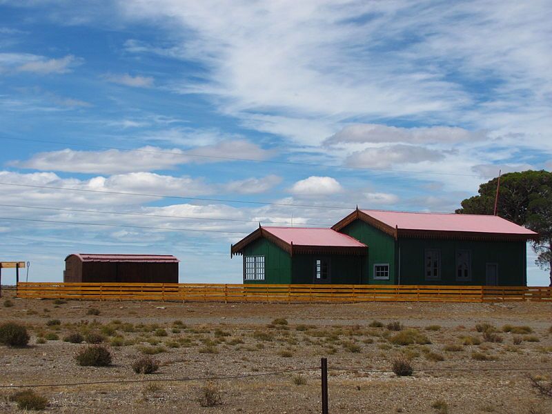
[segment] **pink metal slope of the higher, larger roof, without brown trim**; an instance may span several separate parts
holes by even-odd
[[[502,217],[452,213],[408,213],[402,211],[361,210],[388,226],[404,230],[460,231],[504,235],[536,235]]]

